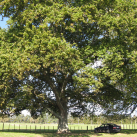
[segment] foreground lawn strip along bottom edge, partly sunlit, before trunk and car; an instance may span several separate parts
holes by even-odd
[[[0,137],[137,137],[136,130],[124,130],[121,133],[70,133],[70,134],[56,134],[56,133],[19,133],[19,132],[0,132]]]

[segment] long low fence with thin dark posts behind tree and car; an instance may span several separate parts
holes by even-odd
[[[120,124],[119,124],[120,125]],[[84,124],[77,124],[77,125],[69,125],[69,130],[71,132],[88,132],[93,131],[94,128],[98,127],[99,125],[84,125]],[[57,131],[57,124],[23,124],[23,123],[0,123],[0,130],[1,131],[18,131],[18,132],[56,132]],[[123,124],[121,125],[121,129],[137,129],[137,124]]]

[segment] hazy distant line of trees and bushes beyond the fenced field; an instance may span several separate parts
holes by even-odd
[[[0,118],[0,122],[4,123],[32,123],[32,124],[58,124],[58,119],[49,115],[45,114],[42,117],[38,117],[37,119],[33,119],[30,115],[24,116],[20,114],[18,116],[14,115],[12,117],[5,117],[4,119]],[[82,116],[82,117],[73,117],[71,115],[68,116],[68,123],[69,124],[98,124],[101,125],[102,123],[115,123],[115,124],[137,124],[136,117],[131,116]]]

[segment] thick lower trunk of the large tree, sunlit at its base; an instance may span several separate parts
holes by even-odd
[[[67,119],[67,113],[65,115],[61,115],[61,118],[59,119],[58,123],[58,133],[69,133],[68,128],[68,119]]]

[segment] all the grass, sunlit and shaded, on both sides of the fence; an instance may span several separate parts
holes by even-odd
[[[3,123],[0,123],[0,137],[137,137],[137,125],[122,125],[129,129],[111,134],[94,133],[93,129],[97,126],[99,125],[69,125],[70,134],[57,134],[57,124],[4,123],[3,130]]]

